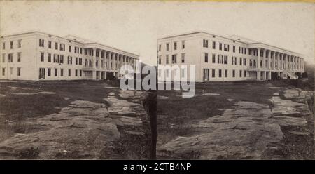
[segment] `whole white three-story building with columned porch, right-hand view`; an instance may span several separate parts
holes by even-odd
[[[158,64],[195,65],[196,81],[297,79],[297,74],[304,72],[302,57],[300,53],[239,36],[191,32],[158,39]],[[189,69],[180,74],[190,78]],[[169,76],[174,79],[172,71],[161,74],[159,70],[159,80]]]

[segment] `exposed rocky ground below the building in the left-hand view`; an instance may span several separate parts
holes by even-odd
[[[141,105],[144,94],[122,91],[105,83],[92,85],[107,89],[106,95],[101,95],[104,102],[64,97],[69,104],[59,107],[58,112],[23,119],[25,131],[10,133],[6,138],[2,136],[0,159],[148,158],[148,119]],[[40,95],[38,91],[29,90],[6,91],[2,97]],[[39,93],[43,94],[43,91]],[[45,91],[45,95],[56,93],[59,94],[58,91]],[[5,114],[1,116],[10,118]],[[6,128],[10,128],[14,121],[7,121]]]

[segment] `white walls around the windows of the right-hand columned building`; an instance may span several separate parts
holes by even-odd
[[[182,41],[185,41],[184,49],[181,48]],[[204,46],[204,41],[207,41],[208,46]],[[176,42],[179,47],[176,50],[174,50],[174,42]],[[215,43],[215,48],[213,48],[213,42]],[[169,51],[166,51],[167,43],[169,43]],[[221,49],[220,43],[222,46]],[[174,64],[172,64],[172,62],[169,62],[168,65],[195,65],[196,81],[241,81],[247,79],[260,80],[270,78],[269,74],[271,74],[271,72],[279,72],[281,78],[285,78],[286,74],[282,73],[286,69],[285,63],[291,65],[291,67],[297,67],[293,66],[293,62],[284,62],[283,59],[280,62],[277,62],[279,60],[279,56],[277,56],[276,59],[275,56],[270,59],[270,55],[268,56],[268,58],[265,58],[265,55],[267,54],[267,52],[265,51],[268,49],[270,49],[270,51],[283,54],[291,54],[290,51],[281,50],[279,48],[267,45],[262,45],[261,48],[253,48],[253,46],[255,45],[256,44],[247,44],[246,42],[239,41],[237,39],[227,39],[225,37],[216,36],[214,34],[206,34],[204,32],[183,34],[180,36],[170,36],[165,39],[158,39],[158,63],[160,63],[160,65],[167,65],[166,55],[169,55],[169,60],[172,60],[172,55],[177,54],[177,62]],[[233,50],[233,46],[235,46],[235,51]],[[257,46],[261,46],[261,44],[257,44]],[[225,48],[228,49],[225,50]],[[263,57],[258,56],[258,48],[260,49],[260,51],[263,51]],[[250,50],[251,54],[249,54]],[[185,53],[186,55],[185,63],[181,63],[181,61],[179,61],[181,60],[182,53]],[[208,62],[205,61],[206,54],[208,55]],[[215,56],[214,62],[213,55]],[[220,60],[222,59],[222,55],[225,57],[227,56],[228,64],[225,63],[224,58],[223,63],[218,62],[218,55],[220,55]],[[292,56],[294,56],[294,54]],[[258,62],[258,57],[260,57],[260,60],[262,61],[265,60],[265,62],[262,63],[267,64],[266,67],[258,67],[260,63]],[[234,61],[232,60],[232,58]],[[271,60],[271,62],[269,60]],[[301,61],[302,58],[295,57],[293,61],[294,60]],[[232,63],[232,61],[234,63]],[[246,62],[245,65],[244,62]],[[270,64],[272,65],[272,68],[269,68]],[[279,68],[275,68],[275,64],[278,64]],[[302,62],[301,67],[304,67],[304,62]],[[209,69],[209,79],[204,79],[204,69]],[[225,70],[228,71],[228,76],[225,76]],[[304,68],[290,68],[288,70],[293,73],[304,72]],[[219,76],[220,71],[221,76]],[[233,76],[233,72],[235,72],[235,76]],[[215,76],[213,76],[213,74]],[[260,77],[258,78],[258,76]],[[160,76],[159,80],[162,80]],[[174,78],[172,79],[172,81],[174,81]]]

